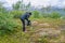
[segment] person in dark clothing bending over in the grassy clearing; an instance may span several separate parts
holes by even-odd
[[[21,16],[21,20],[23,23],[23,31],[25,31],[25,20],[27,20],[27,26],[30,26],[30,20],[28,19],[30,17],[31,13],[26,12],[24,15]]]

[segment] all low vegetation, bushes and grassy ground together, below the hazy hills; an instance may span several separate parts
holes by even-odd
[[[25,12],[0,9],[0,43],[65,43],[65,16],[32,11],[31,26],[23,32],[20,16]]]

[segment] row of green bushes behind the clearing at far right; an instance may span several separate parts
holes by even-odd
[[[44,18],[61,18],[61,14],[60,13],[57,13],[57,12],[52,12],[52,13],[43,13],[43,14],[41,14],[41,16],[42,17],[44,17]]]

